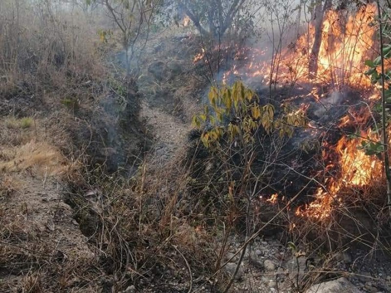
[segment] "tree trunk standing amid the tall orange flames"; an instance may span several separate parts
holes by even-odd
[[[315,79],[318,74],[318,57],[319,50],[322,44],[322,32],[323,32],[323,16],[327,9],[331,6],[331,0],[326,0],[323,7],[322,1],[320,1],[314,9],[314,43],[312,45],[311,54],[308,62],[309,79]]]

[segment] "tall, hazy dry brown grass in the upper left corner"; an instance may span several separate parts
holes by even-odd
[[[1,11],[0,93],[5,97],[56,91],[59,99],[66,98],[73,83],[105,75],[96,28],[87,18],[51,1],[8,1]]]

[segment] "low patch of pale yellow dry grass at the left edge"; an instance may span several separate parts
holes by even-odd
[[[22,146],[0,149],[0,174],[28,170],[36,176],[54,176],[67,167],[60,151],[45,142],[31,140]]]

